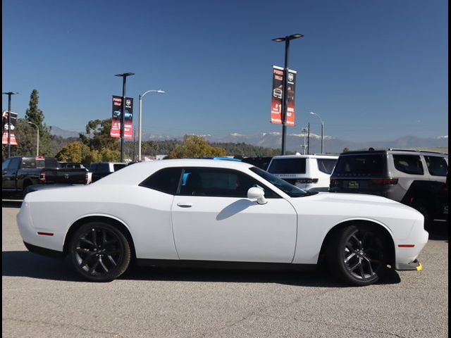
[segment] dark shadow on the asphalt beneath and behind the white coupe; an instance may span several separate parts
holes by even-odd
[[[29,251],[2,251],[2,276],[30,277],[63,282],[86,282],[66,259],[47,258]],[[143,268],[132,266],[120,280],[168,282],[275,283],[299,287],[348,287],[323,271],[216,270],[203,268]],[[398,284],[400,276],[390,270],[378,284]]]

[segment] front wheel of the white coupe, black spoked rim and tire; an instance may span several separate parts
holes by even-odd
[[[388,270],[388,247],[378,229],[350,225],[336,232],[329,243],[329,270],[346,284],[371,285]]]

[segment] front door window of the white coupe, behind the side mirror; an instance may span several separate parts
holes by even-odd
[[[183,172],[178,194],[183,196],[213,196],[247,198],[247,190],[259,187],[266,198],[278,195],[252,177],[235,170],[187,168]]]

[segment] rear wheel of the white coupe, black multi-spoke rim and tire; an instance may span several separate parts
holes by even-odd
[[[82,225],[70,239],[69,250],[75,271],[93,282],[110,282],[130,265],[130,243],[109,223]]]

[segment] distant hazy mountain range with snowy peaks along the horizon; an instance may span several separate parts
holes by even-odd
[[[61,137],[78,137],[80,132],[63,130],[59,127],[52,126],[51,133]],[[263,146],[265,148],[280,148],[282,143],[282,134],[280,132],[262,132],[259,134],[238,134],[232,133],[226,136],[202,135],[209,142],[232,142],[247,143],[254,146]],[[307,136],[307,135],[306,135]],[[164,141],[168,139],[183,139],[183,136],[151,134],[143,132],[142,139],[144,141]],[[288,134],[287,150],[299,151],[302,153],[304,145],[304,134]],[[388,148],[445,148],[448,147],[448,137],[416,137],[404,136],[394,140],[384,140],[375,142],[351,142],[337,137],[326,135],[324,137],[324,149],[327,153],[339,154],[343,149],[350,150],[368,149],[388,149]],[[321,151],[321,136],[310,134],[310,152],[319,153]]]

